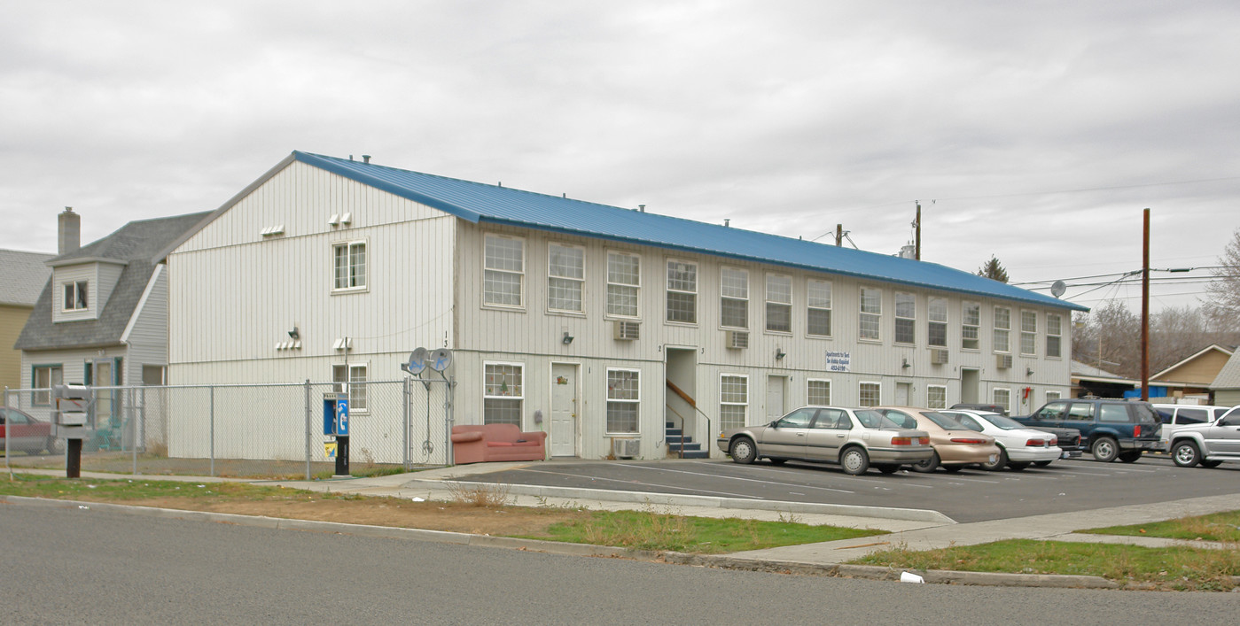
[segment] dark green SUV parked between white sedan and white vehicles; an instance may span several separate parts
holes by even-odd
[[[1148,402],[1071,399],[1048,402],[1032,415],[1012,418],[1029,428],[1075,428],[1094,459],[1133,462],[1158,450],[1158,414]]]

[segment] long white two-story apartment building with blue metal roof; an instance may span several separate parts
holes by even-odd
[[[806,403],[1029,410],[1069,392],[1085,310],[934,263],[306,152],[164,255],[177,383],[365,388],[448,347],[456,423],[590,459],[613,438],[663,456],[668,421],[713,447]],[[399,436],[399,407],[360,420]]]

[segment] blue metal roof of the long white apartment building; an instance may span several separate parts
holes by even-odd
[[[474,223],[495,223],[1087,311],[937,263],[295,151],[293,157]]]

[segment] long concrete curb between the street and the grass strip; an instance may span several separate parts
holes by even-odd
[[[485,548],[507,548],[512,550],[542,552],[569,557],[604,557],[668,563],[675,565],[694,565],[743,571],[769,571],[776,574],[797,574],[816,576],[861,578],[870,580],[899,580],[901,571],[921,575],[926,583],[983,585],[983,586],[1040,586],[1040,588],[1078,588],[1078,589],[1120,589],[1121,585],[1099,576],[1054,575],[1054,574],[996,574],[986,571],[947,571],[947,570],[901,570],[880,565],[847,565],[838,563],[799,563],[773,559],[746,559],[728,554],[686,554],[678,552],[637,550],[589,545],[580,543],[544,542],[538,539],[517,539],[512,537],[491,537],[485,534],[454,533],[448,531],[425,531],[422,528],[397,528],[387,526],[348,524],[342,522],[319,522],[312,519],[289,519],[280,517],[242,516],[237,513],[212,513],[206,511],[184,511],[179,508],[155,508],[134,505],[112,505],[107,502],[84,502],[74,500],[32,498],[26,496],[0,496],[0,503],[83,508],[108,511],[123,514],[160,517],[171,519],[192,519],[200,522],[227,523],[275,531],[304,531],[320,533],[351,534],[381,539],[405,539],[419,542],[450,543]]]

